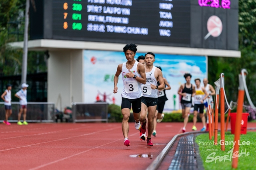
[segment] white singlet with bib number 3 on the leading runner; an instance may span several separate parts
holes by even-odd
[[[141,75],[137,72],[137,66],[138,61],[135,61],[133,67],[130,69],[130,71],[135,74],[137,77],[141,77]],[[129,70],[126,68],[126,62],[123,63],[122,66],[122,79],[123,79],[123,85],[124,89],[122,91],[122,98],[128,98],[128,99],[137,99],[142,96],[141,91],[141,83],[138,82],[135,78],[127,78],[125,74],[127,74]]]

